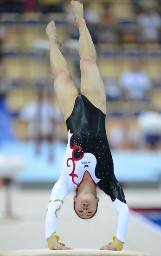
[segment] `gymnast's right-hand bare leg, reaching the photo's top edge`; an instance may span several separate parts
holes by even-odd
[[[106,114],[106,95],[103,80],[96,64],[96,49],[84,20],[83,5],[71,1],[75,26],[79,29],[79,55],[81,69],[81,94]]]

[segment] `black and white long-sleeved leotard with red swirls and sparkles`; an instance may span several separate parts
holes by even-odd
[[[88,171],[93,182],[110,196],[118,214],[116,237],[124,242],[129,222],[129,209],[121,185],[114,175],[114,165],[105,130],[103,112],[84,95],[77,96],[73,111],[66,120],[68,144],[62,172],[55,183],[45,220],[45,236],[56,231],[58,211],[66,195],[76,189]]]

